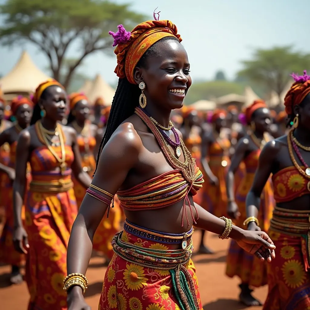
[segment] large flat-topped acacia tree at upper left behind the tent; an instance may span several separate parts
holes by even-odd
[[[4,18],[0,27],[2,45],[31,42],[47,56],[56,80],[68,65],[68,53],[75,52],[74,61],[61,79],[65,87],[88,55],[96,51],[111,53],[109,30],[116,30],[118,24],[131,30],[144,19],[128,4],[100,0],[7,0],[0,6],[0,14]]]

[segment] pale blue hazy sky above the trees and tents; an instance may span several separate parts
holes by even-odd
[[[128,3],[123,0],[115,2]],[[133,10],[146,14],[149,19],[153,19],[153,11],[158,6],[160,18],[177,25],[188,52],[194,81],[211,79],[218,69],[224,70],[228,78],[234,78],[241,69],[240,61],[249,59],[256,47],[292,44],[298,50],[310,52],[307,30],[310,1],[135,0],[131,3]],[[23,49],[29,52],[40,69],[47,68],[45,56],[36,47],[26,44],[11,50],[0,47],[0,73],[9,72]],[[69,57],[74,57],[74,53],[71,50]],[[107,82],[115,83],[115,64],[114,55],[96,53],[85,60],[80,71],[90,77],[100,73]]]

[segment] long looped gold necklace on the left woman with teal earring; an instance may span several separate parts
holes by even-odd
[[[38,121],[36,123],[36,125],[37,124],[38,124],[38,132],[39,132],[39,135],[41,136],[41,139],[43,140],[43,143],[47,146],[48,150],[52,153],[52,155],[56,158],[56,160],[60,163],[60,172],[61,172],[62,175],[64,175],[64,172],[67,170],[67,164],[65,162],[65,160],[66,160],[66,150],[65,150],[65,147],[64,147],[64,135],[63,135],[61,126],[57,123],[56,129],[55,129],[55,135],[56,135],[56,132],[57,132],[58,135],[59,135],[59,140],[60,140],[60,149],[61,149],[61,158],[60,158],[58,156],[58,154],[55,152],[55,150],[48,143],[46,132],[50,132],[51,133],[51,131],[48,131],[48,130],[46,130],[43,127],[41,120]],[[40,139],[40,137],[39,137],[39,139]],[[41,140],[41,142],[42,142],[42,140]]]

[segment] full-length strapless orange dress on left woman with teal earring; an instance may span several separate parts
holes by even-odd
[[[61,157],[61,147],[53,147]],[[25,203],[25,229],[29,238],[26,281],[30,293],[28,310],[65,310],[67,296],[67,245],[78,208],[74,196],[72,148],[64,146],[67,169],[55,171],[59,162],[42,145],[30,154],[32,180]]]

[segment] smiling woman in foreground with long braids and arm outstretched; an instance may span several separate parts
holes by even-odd
[[[122,25],[118,28],[113,37],[120,79],[97,172],[69,240],[69,275],[64,282],[69,309],[90,309],[83,292],[91,241],[115,193],[127,219],[112,241],[115,255],[99,308],[202,309],[190,259],[193,224],[221,238],[235,238],[262,260],[274,257],[269,250],[274,246],[266,233],[232,226],[193,202],[202,174],[170,122],[171,110],[182,107],[191,85],[176,26],[169,20],[149,20],[131,33]]]

